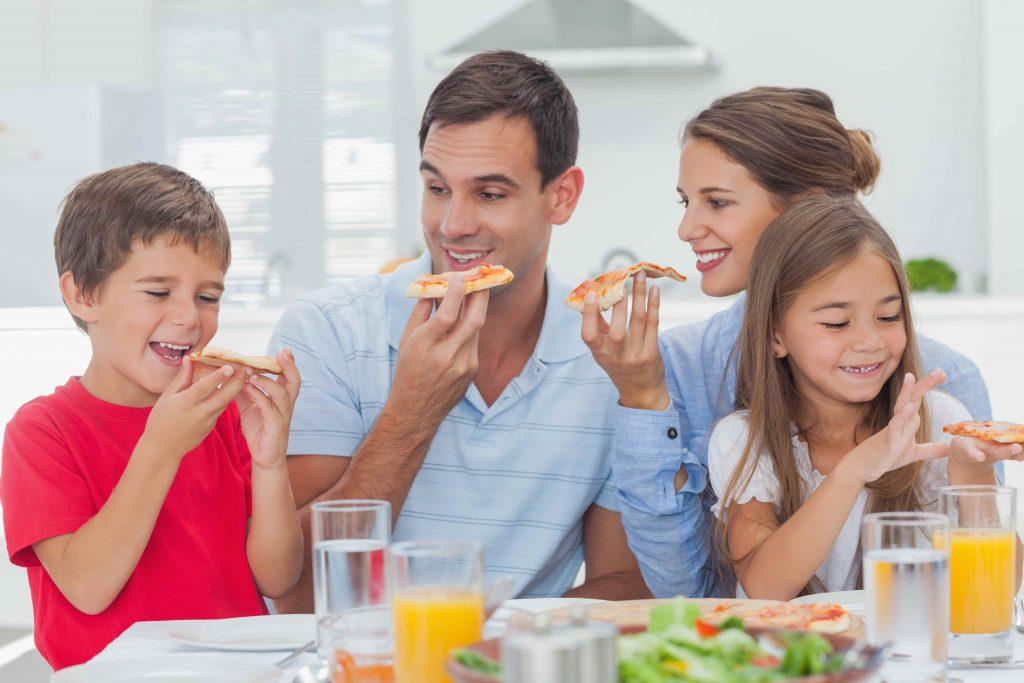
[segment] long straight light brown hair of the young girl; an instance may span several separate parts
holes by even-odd
[[[868,250],[892,267],[899,285],[906,350],[893,375],[873,400],[864,408],[858,433],[873,434],[889,423],[893,405],[906,373],[920,376],[921,360],[910,317],[909,286],[899,252],[892,238],[855,199],[816,195],[780,214],[769,224],[754,252],[746,287],[743,326],[739,335],[739,368],[736,410],[749,412],[749,436],[739,465],[733,471],[722,500],[720,543],[728,551],[730,509],[728,502],[750,483],[758,458],[767,458],[778,479],[778,523],[800,509],[807,493],[793,450],[794,425],[802,414],[800,394],[785,358],[775,357],[772,340],[797,296],[809,285],[849,263]],[[919,440],[930,433],[928,411],[922,403]],[[805,433],[807,426],[801,433]],[[867,484],[868,512],[920,510],[921,463],[886,473]],[[812,579],[805,593],[819,592]],[[858,581],[858,584],[860,582]]]

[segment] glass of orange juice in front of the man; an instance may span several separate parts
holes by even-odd
[[[395,683],[451,683],[444,660],[480,640],[483,561],[474,541],[391,546]]]

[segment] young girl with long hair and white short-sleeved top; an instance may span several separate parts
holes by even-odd
[[[790,600],[860,582],[867,512],[935,509],[946,483],[995,483],[1019,444],[956,437],[969,420],[918,381],[903,264],[855,200],[819,195],[775,219],[751,265],[737,412],[708,451],[725,555],[742,593]]]

